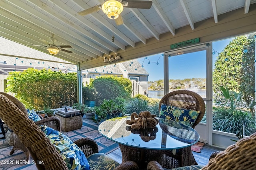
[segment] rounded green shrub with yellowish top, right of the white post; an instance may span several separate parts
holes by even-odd
[[[127,78],[117,76],[101,76],[90,81],[94,86],[98,99],[110,100],[117,97],[128,99],[132,94],[132,82]]]

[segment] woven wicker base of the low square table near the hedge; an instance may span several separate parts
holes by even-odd
[[[60,119],[60,127],[62,131],[68,132],[76,129],[81,129],[83,125],[81,113],[63,115],[59,112],[56,112],[55,115]]]

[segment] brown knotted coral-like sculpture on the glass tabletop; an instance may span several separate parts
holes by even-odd
[[[131,120],[127,120],[126,123],[131,125],[132,129],[154,128],[158,124],[158,119],[155,117],[156,115],[151,115],[150,111],[142,111],[139,115],[134,112],[131,115]]]

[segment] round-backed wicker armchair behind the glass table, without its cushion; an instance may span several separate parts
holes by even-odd
[[[159,111],[161,104],[200,111],[196,121],[192,125],[192,128],[198,125],[205,112],[205,104],[202,97],[189,90],[176,90],[163,96],[160,100]],[[162,156],[160,164],[166,168],[176,168],[181,166],[197,165],[197,162],[192,154],[191,147],[187,147],[178,149],[176,154],[173,154],[172,150],[166,150]]]

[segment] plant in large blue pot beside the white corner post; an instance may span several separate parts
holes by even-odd
[[[84,103],[88,107],[95,106],[96,90],[93,86],[84,86],[82,88]]]

